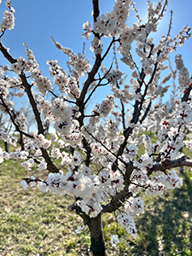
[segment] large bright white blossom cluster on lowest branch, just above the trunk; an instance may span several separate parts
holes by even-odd
[[[79,164],[79,163],[78,163]],[[88,167],[82,166],[80,172],[67,172],[64,175],[60,173],[49,173],[48,179],[43,182],[38,178],[31,177],[22,181],[24,189],[38,183],[38,189],[43,192],[51,192],[58,195],[75,195],[81,199],[77,201],[77,205],[82,208],[90,217],[96,217],[102,210],[102,190],[106,187],[106,182],[96,175],[91,175]],[[90,193],[90,191],[92,191]]]

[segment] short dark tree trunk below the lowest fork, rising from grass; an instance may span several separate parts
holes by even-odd
[[[94,256],[105,256],[105,244],[102,235],[102,214],[99,214],[96,218],[90,218],[86,214],[81,214],[80,216],[84,219],[84,224],[87,224],[90,230],[90,252]]]

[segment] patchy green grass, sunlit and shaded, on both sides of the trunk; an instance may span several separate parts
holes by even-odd
[[[38,189],[23,190],[22,177],[45,177],[47,173],[26,173],[19,161],[0,166],[0,256],[88,255],[90,236],[75,212],[67,212],[70,198],[43,194]],[[103,217],[108,255],[192,255],[192,173],[183,174],[182,189],[164,197],[146,197],[145,212],[136,219],[138,236],[132,238],[114,222]],[[119,246],[113,250],[110,236],[119,232]]]

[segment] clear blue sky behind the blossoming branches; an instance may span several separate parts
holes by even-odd
[[[107,11],[113,9],[113,0],[100,1],[101,14],[106,14]],[[144,18],[147,14],[146,1],[135,0],[137,9],[140,9],[140,15]],[[157,1],[154,1],[154,3]],[[12,5],[15,8],[15,29],[7,31],[3,35],[3,44],[10,49],[10,54],[15,58],[20,56],[26,57],[25,47],[23,43],[28,44],[29,49],[32,49],[39,64],[39,68],[43,70],[43,75],[49,75],[46,61],[49,59],[58,60],[61,67],[65,67],[68,60],[67,56],[63,55],[59,49],[55,48],[50,37],[54,37],[63,46],[73,49],[74,53],[82,52],[82,47],[85,39],[81,36],[83,32],[82,25],[87,20],[93,27],[91,10],[91,0],[12,0]],[[3,17],[4,0],[0,5],[0,19]],[[165,19],[160,22],[160,32],[158,38],[165,34],[168,29],[170,20],[170,10],[173,10],[172,37],[179,32],[183,26],[192,26],[192,1],[191,0],[170,0],[167,7]],[[128,25],[131,25],[133,20],[131,15],[128,19]],[[108,40],[103,40],[103,44]],[[90,51],[90,41],[86,41],[86,58],[90,59],[92,54]],[[192,38],[190,38],[183,47],[177,50],[177,53],[183,55],[183,60],[186,67],[190,68],[192,57]],[[177,53],[172,53],[172,60]],[[109,56],[106,61],[108,67],[111,64],[112,56]],[[0,55],[0,64],[6,64],[3,55]],[[174,65],[174,64],[173,64]],[[190,72],[190,69],[189,69]],[[192,73],[192,71],[191,71]]]

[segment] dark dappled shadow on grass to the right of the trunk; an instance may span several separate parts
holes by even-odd
[[[183,187],[163,197],[150,197],[149,208],[137,219],[137,247],[132,255],[192,255],[192,181],[185,172]]]

